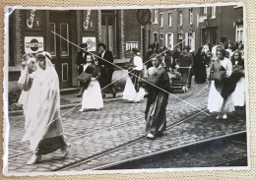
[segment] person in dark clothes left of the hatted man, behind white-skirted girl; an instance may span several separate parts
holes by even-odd
[[[87,64],[87,55],[89,54],[87,52],[87,49],[88,49],[87,43],[82,43],[80,48],[81,48],[81,51],[79,51],[77,55],[78,75],[81,75],[81,73],[83,73],[84,65]],[[78,97],[81,97],[84,92],[84,82],[80,82],[80,87],[81,87],[81,90],[77,95]]]

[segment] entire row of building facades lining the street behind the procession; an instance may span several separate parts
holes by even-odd
[[[39,50],[51,53],[61,89],[78,87],[77,53],[87,42],[90,51],[105,43],[114,63],[128,62],[132,48],[146,56],[149,44],[192,51],[209,43],[244,41],[243,9],[237,6],[151,9],[151,21],[139,25],[137,10],[16,9],[9,19],[9,90],[17,88],[21,57]],[[226,16],[228,15],[228,16]],[[145,58],[144,58],[145,59]]]

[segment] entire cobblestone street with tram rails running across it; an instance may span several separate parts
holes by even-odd
[[[142,103],[128,103],[124,100],[104,102],[104,108],[99,111],[79,112],[80,107],[77,107],[61,118],[65,134],[72,144],[69,154],[62,158],[57,150],[42,156],[42,161],[34,165],[26,165],[32,152],[28,143],[21,143],[25,132],[24,116],[10,116],[9,172],[94,169],[119,160],[150,155],[160,150],[177,149],[195,142],[245,131],[245,117],[242,112],[235,112],[226,121],[217,121],[215,114],[209,117],[198,110],[206,108],[209,91],[206,87],[207,84],[196,84],[186,93],[173,94],[186,99],[188,103],[169,95],[168,130],[162,138],[155,141],[144,138],[146,99]],[[61,113],[67,110],[62,109]],[[124,147],[125,145],[127,146]],[[119,149],[116,150],[117,148]],[[106,152],[105,155],[103,152]],[[90,158],[94,159],[89,160]],[[77,165],[79,162],[81,163]]]

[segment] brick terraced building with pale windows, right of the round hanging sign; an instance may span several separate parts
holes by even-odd
[[[197,16],[200,8],[153,9],[152,22],[146,26],[148,44],[173,50],[188,45],[192,51],[200,46],[200,29]]]

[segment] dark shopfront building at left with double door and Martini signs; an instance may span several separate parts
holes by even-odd
[[[114,63],[127,62],[132,48],[141,46],[135,11],[16,9],[9,20],[9,90],[17,88],[21,57],[29,52],[51,53],[61,89],[78,87],[76,58],[82,42],[95,54],[96,44],[105,43]]]

